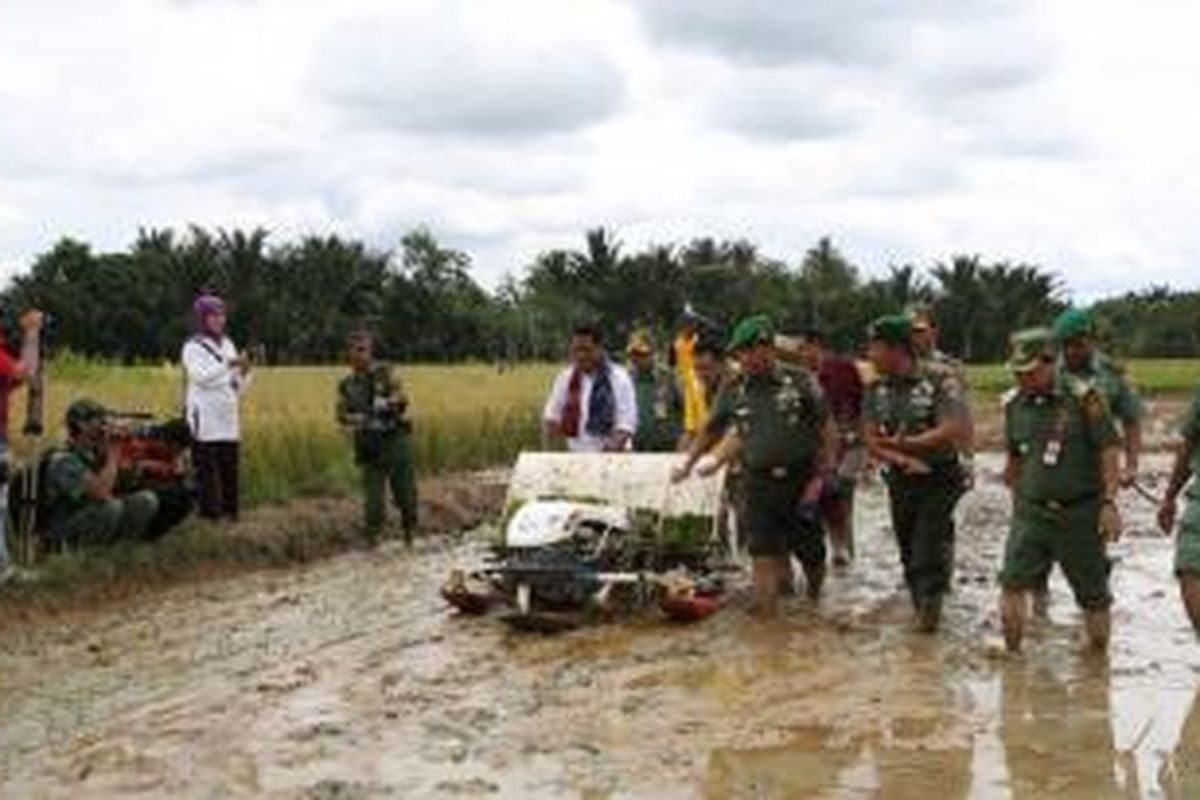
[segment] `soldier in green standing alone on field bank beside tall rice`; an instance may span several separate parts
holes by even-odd
[[[406,417],[408,397],[372,354],[368,333],[350,338],[350,374],[337,385],[337,422],[354,438],[354,459],[362,470],[364,531],[372,545],[384,523],[384,487],[400,507],[404,542],[416,530],[416,473],[413,464],[413,426]]]

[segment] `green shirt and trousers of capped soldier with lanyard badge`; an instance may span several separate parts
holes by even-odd
[[[1080,607],[1106,608],[1100,456],[1117,433],[1103,396],[1060,373],[1048,393],[1006,396],[1004,432],[1019,473],[1001,583],[1032,589],[1057,561]]]

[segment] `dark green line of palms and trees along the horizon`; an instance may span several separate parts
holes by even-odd
[[[53,318],[58,347],[124,362],[174,359],[204,290],[232,307],[233,336],[271,363],[329,362],[347,336],[377,331],[400,361],[557,359],[570,329],[599,321],[614,342],[647,327],[665,342],[691,308],[719,331],[750,313],[782,330],[816,327],[844,350],[863,345],[868,323],[923,305],[943,348],[967,361],[1003,359],[1008,333],[1067,306],[1060,278],[1038,265],[954,255],[928,267],[866,276],[829,239],[794,263],[748,241],[695,239],[626,251],[607,229],[578,249],[544,252],[496,290],[472,276],[470,257],[427,229],[395,251],[340,236],[275,243],[266,230],[143,230],[125,251],[59,241],[16,276],[7,308]],[[1200,293],[1163,288],[1104,300],[1127,356],[1196,350]]]

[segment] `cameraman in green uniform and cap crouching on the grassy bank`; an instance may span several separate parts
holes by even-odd
[[[120,441],[106,426],[104,408],[78,399],[67,409],[67,444],[46,462],[47,533],[60,545],[144,539],[158,498],[143,489],[118,497]]]

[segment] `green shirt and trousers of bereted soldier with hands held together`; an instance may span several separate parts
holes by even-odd
[[[868,387],[863,408],[869,425],[893,437],[918,435],[965,414],[955,372],[932,361],[914,361],[907,375],[880,375]],[[922,461],[930,474],[910,475],[893,467],[884,470],[905,583],[918,607],[940,600],[949,588],[954,507],[965,489],[956,446],[947,444],[924,453]]]

